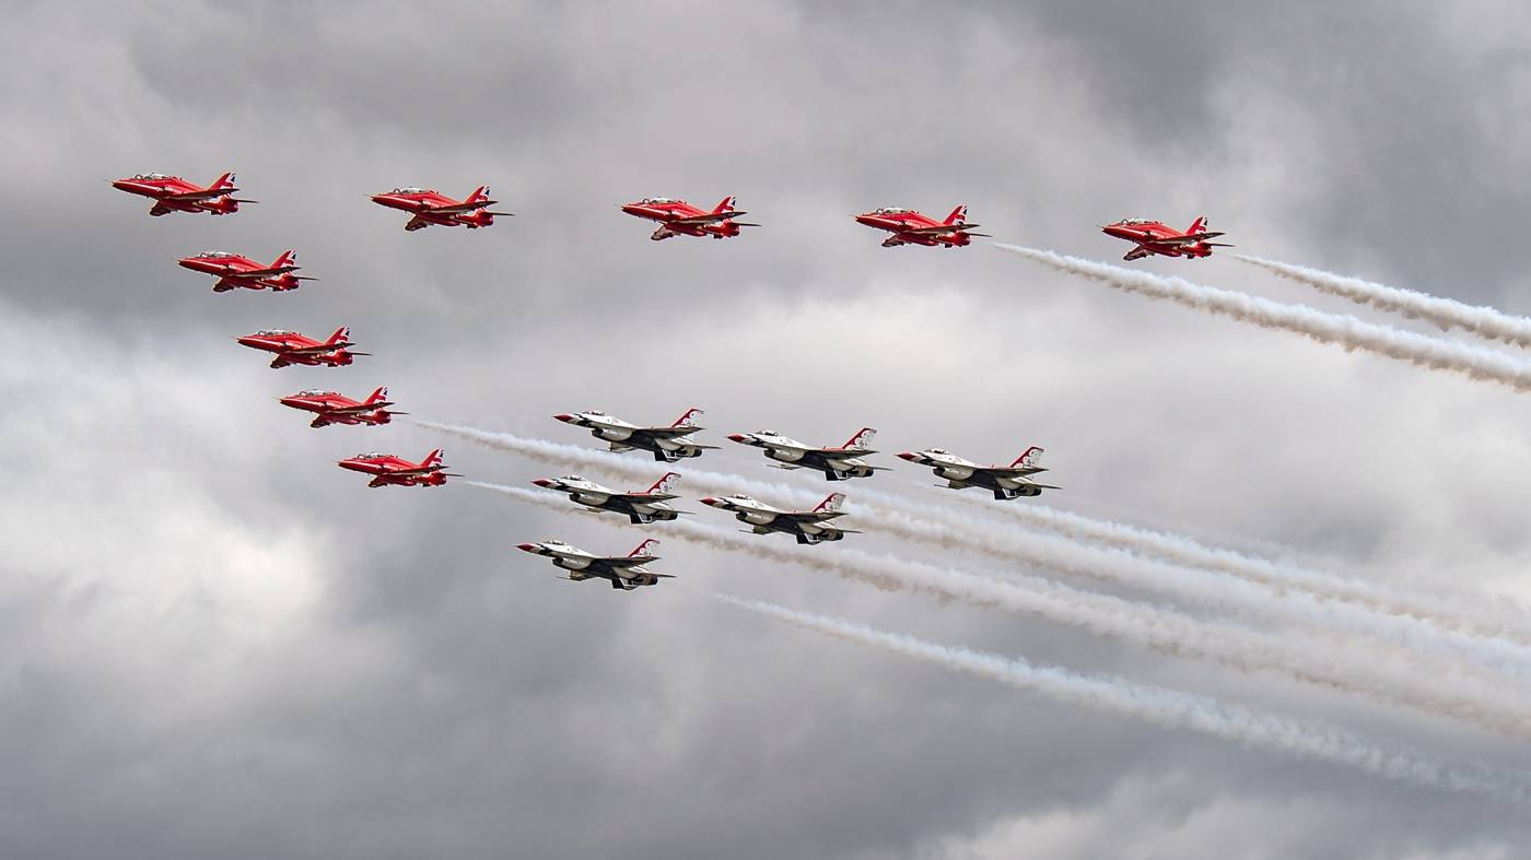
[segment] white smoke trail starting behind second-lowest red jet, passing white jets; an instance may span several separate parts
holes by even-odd
[[[531,456],[554,465],[596,468],[612,473],[625,480],[645,482],[652,477],[654,471],[652,465],[632,461],[631,458],[622,458],[609,451],[580,448],[576,445],[563,445],[539,439],[522,439],[507,433],[488,433],[468,427],[455,427],[424,421],[419,424],[490,447]],[[723,494],[746,490],[762,496],[775,494],[778,497],[790,497],[795,503],[801,505],[808,505],[818,500],[816,494],[793,490],[781,484],[758,482],[735,474],[723,474],[706,470],[687,468],[684,480],[687,487],[698,488],[703,493]],[[1226,574],[1220,574],[1219,571],[1225,571],[1226,565],[1214,565],[1213,569],[1188,571],[1160,562],[1136,559],[1122,551],[1079,546],[1058,537],[1017,534],[1003,528],[984,528],[983,525],[972,523],[971,517],[965,517],[949,508],[909,502],[886,493],[857,490],[857,496],[862,499],[874,499],[880,505],[867,507],[853,503],[850,508],[853,514],[870,517],[870,520],[874,522],[880,531],[905,540],[929,543],[943,549],[972,549],[995,559],[1040,565],[1070,575],[1153,588],[1200,604],[1228,609],[1245,617],[1285,618],[1298,624],[1317,626],[1323,629],[1341,627],[1350,634],[1367,635],[1399,647],[1468,658],[1477,664],[1507,672],[1513,676],[1523,676],[1528,664],[1531,664],[1531,653],[1516,643],[1500,638],[1482,638],[1454,629],[1442,629],[1441,626],[1431,624],[1422,618],[1386,614],[1378,615],[1363,606],[1320,601],[1303,591],[1289,591],[1289,586],[1294,583],[1280,581],[1280,578],[1274,574],[1265,575],[1263,578],[1249,577],[1262,583],[1260,588],[1252,588],[1248,583],[1236,580]],[[1030,510],[1033,508],[1020,508],[1020,511]],[[1021,513],[1020,516],[1024,517],[1026,514]],[[1050,517],[1050,520],[1072,525],[1075,531],[1085,531],[1081,528],[1079,522],[1072,522],[1064,517]],[[1076,516],[1075,520],[1090,522]],[[1047,517],[1044,517],[1043,525],[1049,525]],[[1093,531],[1096,534],[1089,537],[1095,540],[1101,540],[1101,537],[1131,534],[1124,529],[1096,528]],[[1073,537],[1073,534],[1067,536]],[[1104,542],[1113,543],[1122,549],[1141,549],[1144,543],[1150,543],[1151,548],[1159,549],[1160,554],[1165,545],[1171,549],[1177,548],[1171,540]],[[1190,552],[1185,546],[1179,546],[1177,549],[1182,555],[1194,555],[1194,552]],[[1205,552],[1202,555],[1202,560],[1205,562]],[[1255,560],[1249,562],[1251,563],[1245,565],[1249,571],[1257,574],[1269,572],[1265,571],[1262,565],[1255,563]]]

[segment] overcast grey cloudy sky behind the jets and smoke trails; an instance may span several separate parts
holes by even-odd
[[[986,462],[1040,444],[1059,508],[1528,600],[1525,395],[986,246],[885,249],[848,217],[966,202],[1003,240],[1115,260],[1095,225],[1206,214],[1242,251],[1531,314],[1528,28],[1508,2],[14,3],[0,854],[1523,855],[1511,805],[707,595],[1451,762],[1526,770],[1522,741],[678,540],[655,568],[681,578],[660,588],[557,581],[514,543],[623,554],[641,536],[462,484],[366,490],[334,461],[446,447],[482,480],[557,470],[403,422],[309,430],[273,398],[387,384],[415,418],[580,444],[550,416],[700,406],[710,442],[873,425],[883,451]],[[150,170],[237,170],[260,205],[150,219],[103,182]],[[517,217],[406,234],[364,199],[415,184],[490,184]],[[612,208],[649,194],[736,194],[764,226],[649,242]],[[207,248],[295,248],[322,280],[213,295],[175,266]],[[1134,266],[1356,312],[1226,257]],[[374,355],[276,372],[230,340],[340,324]],[[723,444],[701,462],[827,490]],[[870,485],[957,503],[877,462],[897,468]],[[862,548],[943,560],[868,531]]]

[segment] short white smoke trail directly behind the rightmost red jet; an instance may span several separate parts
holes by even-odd
[[[1514,317],[1482,305],[1467,305],[1453,298],[1430,295],[1428,292],[1399,289],[1358,277],[1337,275],[1323,269],[1280,263],[1263,257],[1246,254],[1229,254],[1229,257],[1260,266],[1280,277],[1306,283],[1318,292],[1349,298],[1356,305],[1370,305],[1381,311],[1402,314],[1409,318],[1424,318],[1441,326],[1441,329],[1462,329],[1487,340],[1500,340],[1514,346],[1531,346],[1531,318],[1526,317]]]

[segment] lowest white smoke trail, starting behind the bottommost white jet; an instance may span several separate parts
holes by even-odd
[[[1505,774],[1484,765],[1436,762],[1409,747],[1379,744],[1323,722],[1258,713],[1232,702],[1134,684],[1124,678],[1081,675],[1061,667],[1033,666],[1021,658],[940,646],[844,618],[796,612],[773,603],[726,594],[715,597],[839,640],[937,663],[1067,704],[1133,716],[1165,728],[1188,728],[1246,747],[1291,753],[1413,785],[1482,794],[1516,803],[1525,803],[1528,797],[1526,782],[1523,777],[1517,779],[1519,774]]]

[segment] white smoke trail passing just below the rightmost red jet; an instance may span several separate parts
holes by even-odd
[[[1035,248],[1004,243],[995,243],[995,248],[1020,254],[1061,272],[1098,280],[1115,289],[1174,301],[1187,308],[1206,311],[1208,314],[1254,323],[1263,329],[1295,332],[1318,343],[1335,343],[1346,349],[1360,349],[1396,358],[1416,367],[1450,370],[1471,376],[1473,380],[1499,383],[1517,392],[1531,392],[1531,361],[1519,355],[1425,337],[1390,326],[1378,326],[1355,317],[1326,314],[1304,305],[1283,305],[1258,295],[1202,286],[1179,277],[1160,277],[1108,263],[1069,257],[1053,251],[1038,251]]]

